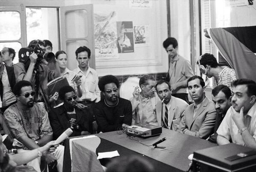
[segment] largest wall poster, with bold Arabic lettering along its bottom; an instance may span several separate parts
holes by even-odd
[[[95,58],[118,58],[116,11],[94,12]]]

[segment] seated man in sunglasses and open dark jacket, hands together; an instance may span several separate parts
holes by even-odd
[[[71,86],[63,86],[59,90],[60,99],[64,101],[62,106],[51,109],[49,113],[54,140],[66,129],[71,128],[70,137],[89,134],[89,115],[87,109],[79,109],[76,106],[77,95]]]

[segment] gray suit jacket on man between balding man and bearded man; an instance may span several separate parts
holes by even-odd
[[[185,110],[184,116],[182,117],[179,126],[177,126],[177,131],[183,132],[183,130],[188,129],[184,132],[187,135],[203,139],[208,138],[213,133],[216,120],[214,103],[205,97],[194,118],[193,111],[194,103],[189,105]]]

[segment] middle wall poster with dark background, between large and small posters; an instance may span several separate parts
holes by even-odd
[[[116,22],[118,53],[134,52],[132,21]]]

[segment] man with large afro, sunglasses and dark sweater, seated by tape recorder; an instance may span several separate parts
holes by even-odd
[[[131,125],[132,110],[129,100],[118,97],[119,81],[113,75],[101,77],[98,87],[104,99],[93,108],[98,132],[112,132]]]

